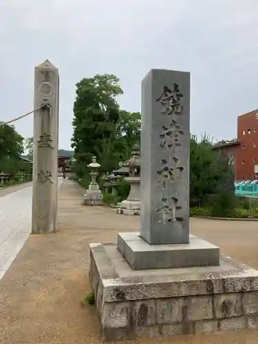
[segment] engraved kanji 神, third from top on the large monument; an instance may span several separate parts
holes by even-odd
[[[169,166],[169,162],[165,159],[162,159],[162,169],[157,171],[160,178],[158,182],[162,184],[163,189],[166,189],[168,182],[175,182],[181,179],[182,171],[184,171],[184,166],[178,166],[178,158],[173,157],[173,166]]]

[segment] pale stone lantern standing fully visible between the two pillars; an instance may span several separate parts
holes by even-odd
[[[92,157],[92,162],[88,164],[90,169],[90,175],[92,176],[92,182],[89,184],[89,189],[87,189],[86,193],[83,195],[84,197],[84,204],[88,204],[91,206],[101,206],[103,205],[103,195],[101,190],[96,182],[96,178],[98,176],[98,169],[100,168],[100,164],[96,161],[96,156]]]

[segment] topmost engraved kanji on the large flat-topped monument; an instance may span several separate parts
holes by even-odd
[[[183,106],[180,103],[180,98],[182,98],[183,95],[180,92],[178,84],[174,83],[173,87],[173,91],[171,91],[169,87],[164,86],[161,96],[156,99],[156,101],[160,102],[162,107],[164,107],[161,114],[181,114],[183,111]]]

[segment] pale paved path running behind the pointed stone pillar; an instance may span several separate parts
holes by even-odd
[[[58,179],[59,185],[61,181]],[[3,191],[6,195],[0,195],[0,279],[30,235],[32,184],[20,186],[18,191],[12,188]]]

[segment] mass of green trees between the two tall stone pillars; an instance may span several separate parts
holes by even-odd
[[[140,113],[120,109],[116,98],[122,94],[113,74],[97,74],[76,84],[72,147],[77,175],[85,175],[92,155],[97,156],[103,172],[111,172],[139,142]]]

